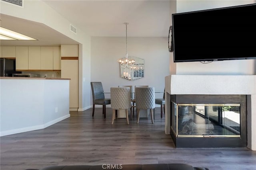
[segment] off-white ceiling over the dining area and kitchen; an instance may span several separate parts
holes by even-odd
[[[42,0],[90,36],[168,37],[169,0]],[[24,2],[24,5],[26,1]],[[14,24],[15,23],[15,24]],[[18,26],[17,26],[18,25]],[[38,41],[1,40],[1,45],[60,45],[76,41],[33,21],[1,14],[1,26]],[[28,29],[33,28],[33,29]]]

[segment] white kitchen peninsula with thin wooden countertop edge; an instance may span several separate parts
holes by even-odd
[[[70,117],[69,81],[0,77],[0,136],[44,129]]]

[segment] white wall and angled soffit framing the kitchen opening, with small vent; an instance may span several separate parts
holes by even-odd
[[[82,31],[78,25],[63,18],[41,0],[25,0],[24,8],[4,2],[0,2],[0,4],[2,14],[43,23],[82,45],[82,49],[79,49],[79,60],[82,62],[80,64],[82,67],[78,69],[79,78],[84,81],[79,82],[79,87],[81,87],[79,92],[82,94],[79,96],[79,109],[90,106],[90,102],[88,102],[90,101],[90,36]],[[70,31],[70,23],[77,28],[77,34]]]

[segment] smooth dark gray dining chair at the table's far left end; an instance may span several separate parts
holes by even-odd
[[[110,104],[110,99],[105,98],[101,82],[91,82],[92,88],[92,116],[94,116],[95,105],[102,105],[102,114],[106,118],[106,105]]]

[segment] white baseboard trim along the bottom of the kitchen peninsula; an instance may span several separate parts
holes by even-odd
[[[59,121],[62,121],[66,118],[70,117],[70,114],[68,115],[64,115],[62,117],[59,117],[57,119],[54,119],[50,122],[44,123],[42,125],[36,125],[36,126],[30,126],[30,127],[23,127],[23,128],[18,128],[18,129],[12,129],[12,130],[8,130],[8,131],[2,131],[0,132],[0,136],[6,136],[6,135],[13,135],[16,133],[23,133],[23,132],[28,132],[28,131],[35,131],[35,130],[39,130],[39,129],[44,129],[50,125],[53,125]]]

